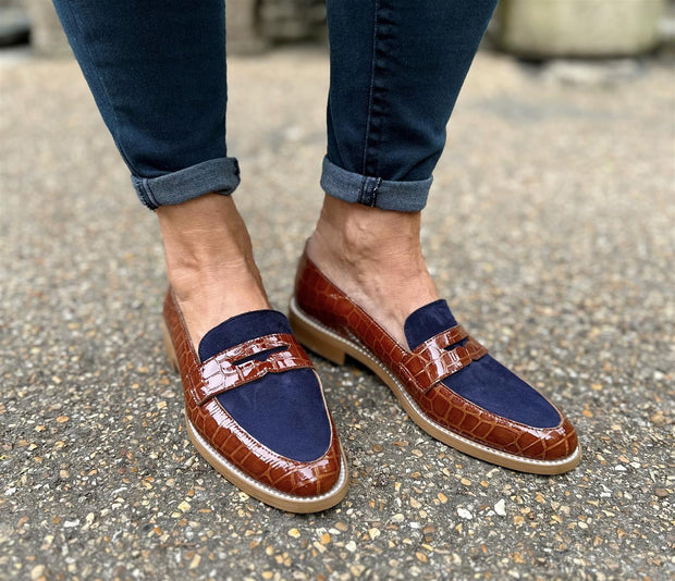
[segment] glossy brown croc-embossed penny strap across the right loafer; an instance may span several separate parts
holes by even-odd
[[[447,349],[464,339],[467,339],[464,345]],[[425,341],[405,358],[404,364],[426,394],[445,378],[480,359],[487,353],[488,349],[469,337],[462,325],[456,325]]]

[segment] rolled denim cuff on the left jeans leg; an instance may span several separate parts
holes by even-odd
[[[218,158],[158,177],[132,175],[132,183],[140,201],[155,210],[209,193],[232,194],[240,185],[240,165],[235,158]]]

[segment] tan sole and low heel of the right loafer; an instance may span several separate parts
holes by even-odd
[[[338,335],[326,325],[311,319],[300,310],[295,298],[291,299],[289,310],[289,320],[299,343],[333,363],[343,366],[346,356],[349,356],[366,366],[389,386],[410,419],[425,432],[444,444],[480,460],[535,474],[562,474],[579,463],[581,459],[579,446],[574,454],[561,460],[536,460],[490,448],[450,431],[427,418],[398,379],[365,347]]]

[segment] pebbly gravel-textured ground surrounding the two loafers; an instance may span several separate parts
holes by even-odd
[[[675,75],[615,69],[479,54],[424,222],[457,318],[568,413],[581,465],[464,456],[365,369],[316,358],[352,485],[294,516],[186,436],[156,220],[76,64],[0,57],[0,578],[673,579]],[[285,309],[321,201],[328,59],[229,76],[235,196]]]

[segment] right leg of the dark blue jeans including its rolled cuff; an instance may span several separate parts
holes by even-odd
[[[496,0],[328,0],[331,82],[321,186],[419,211]]]

